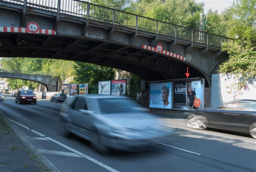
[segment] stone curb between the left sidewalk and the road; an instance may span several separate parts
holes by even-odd
[[[42,153],[38,152],[36,147],[33,146],[27,138],[25,138],[24,136],[21,135],[20,131],[18,131],[14,124],[10,123],[10,121],[8,120],[8,117],[2,112],[0,111],[3,119],[5,121],[5,123],[7,123],[7,125],[15,132],[15,134],[28,146],[29,149],[31,149],[32,151],[34,151],[34,153],[37,155],[38,159],[40,159],[40,161],[42,161],[44,163],[44,165],[49,168],[52,172],[60,172],[60,170],[55,167]],[[1,116],[1,115],[0,115]]]

